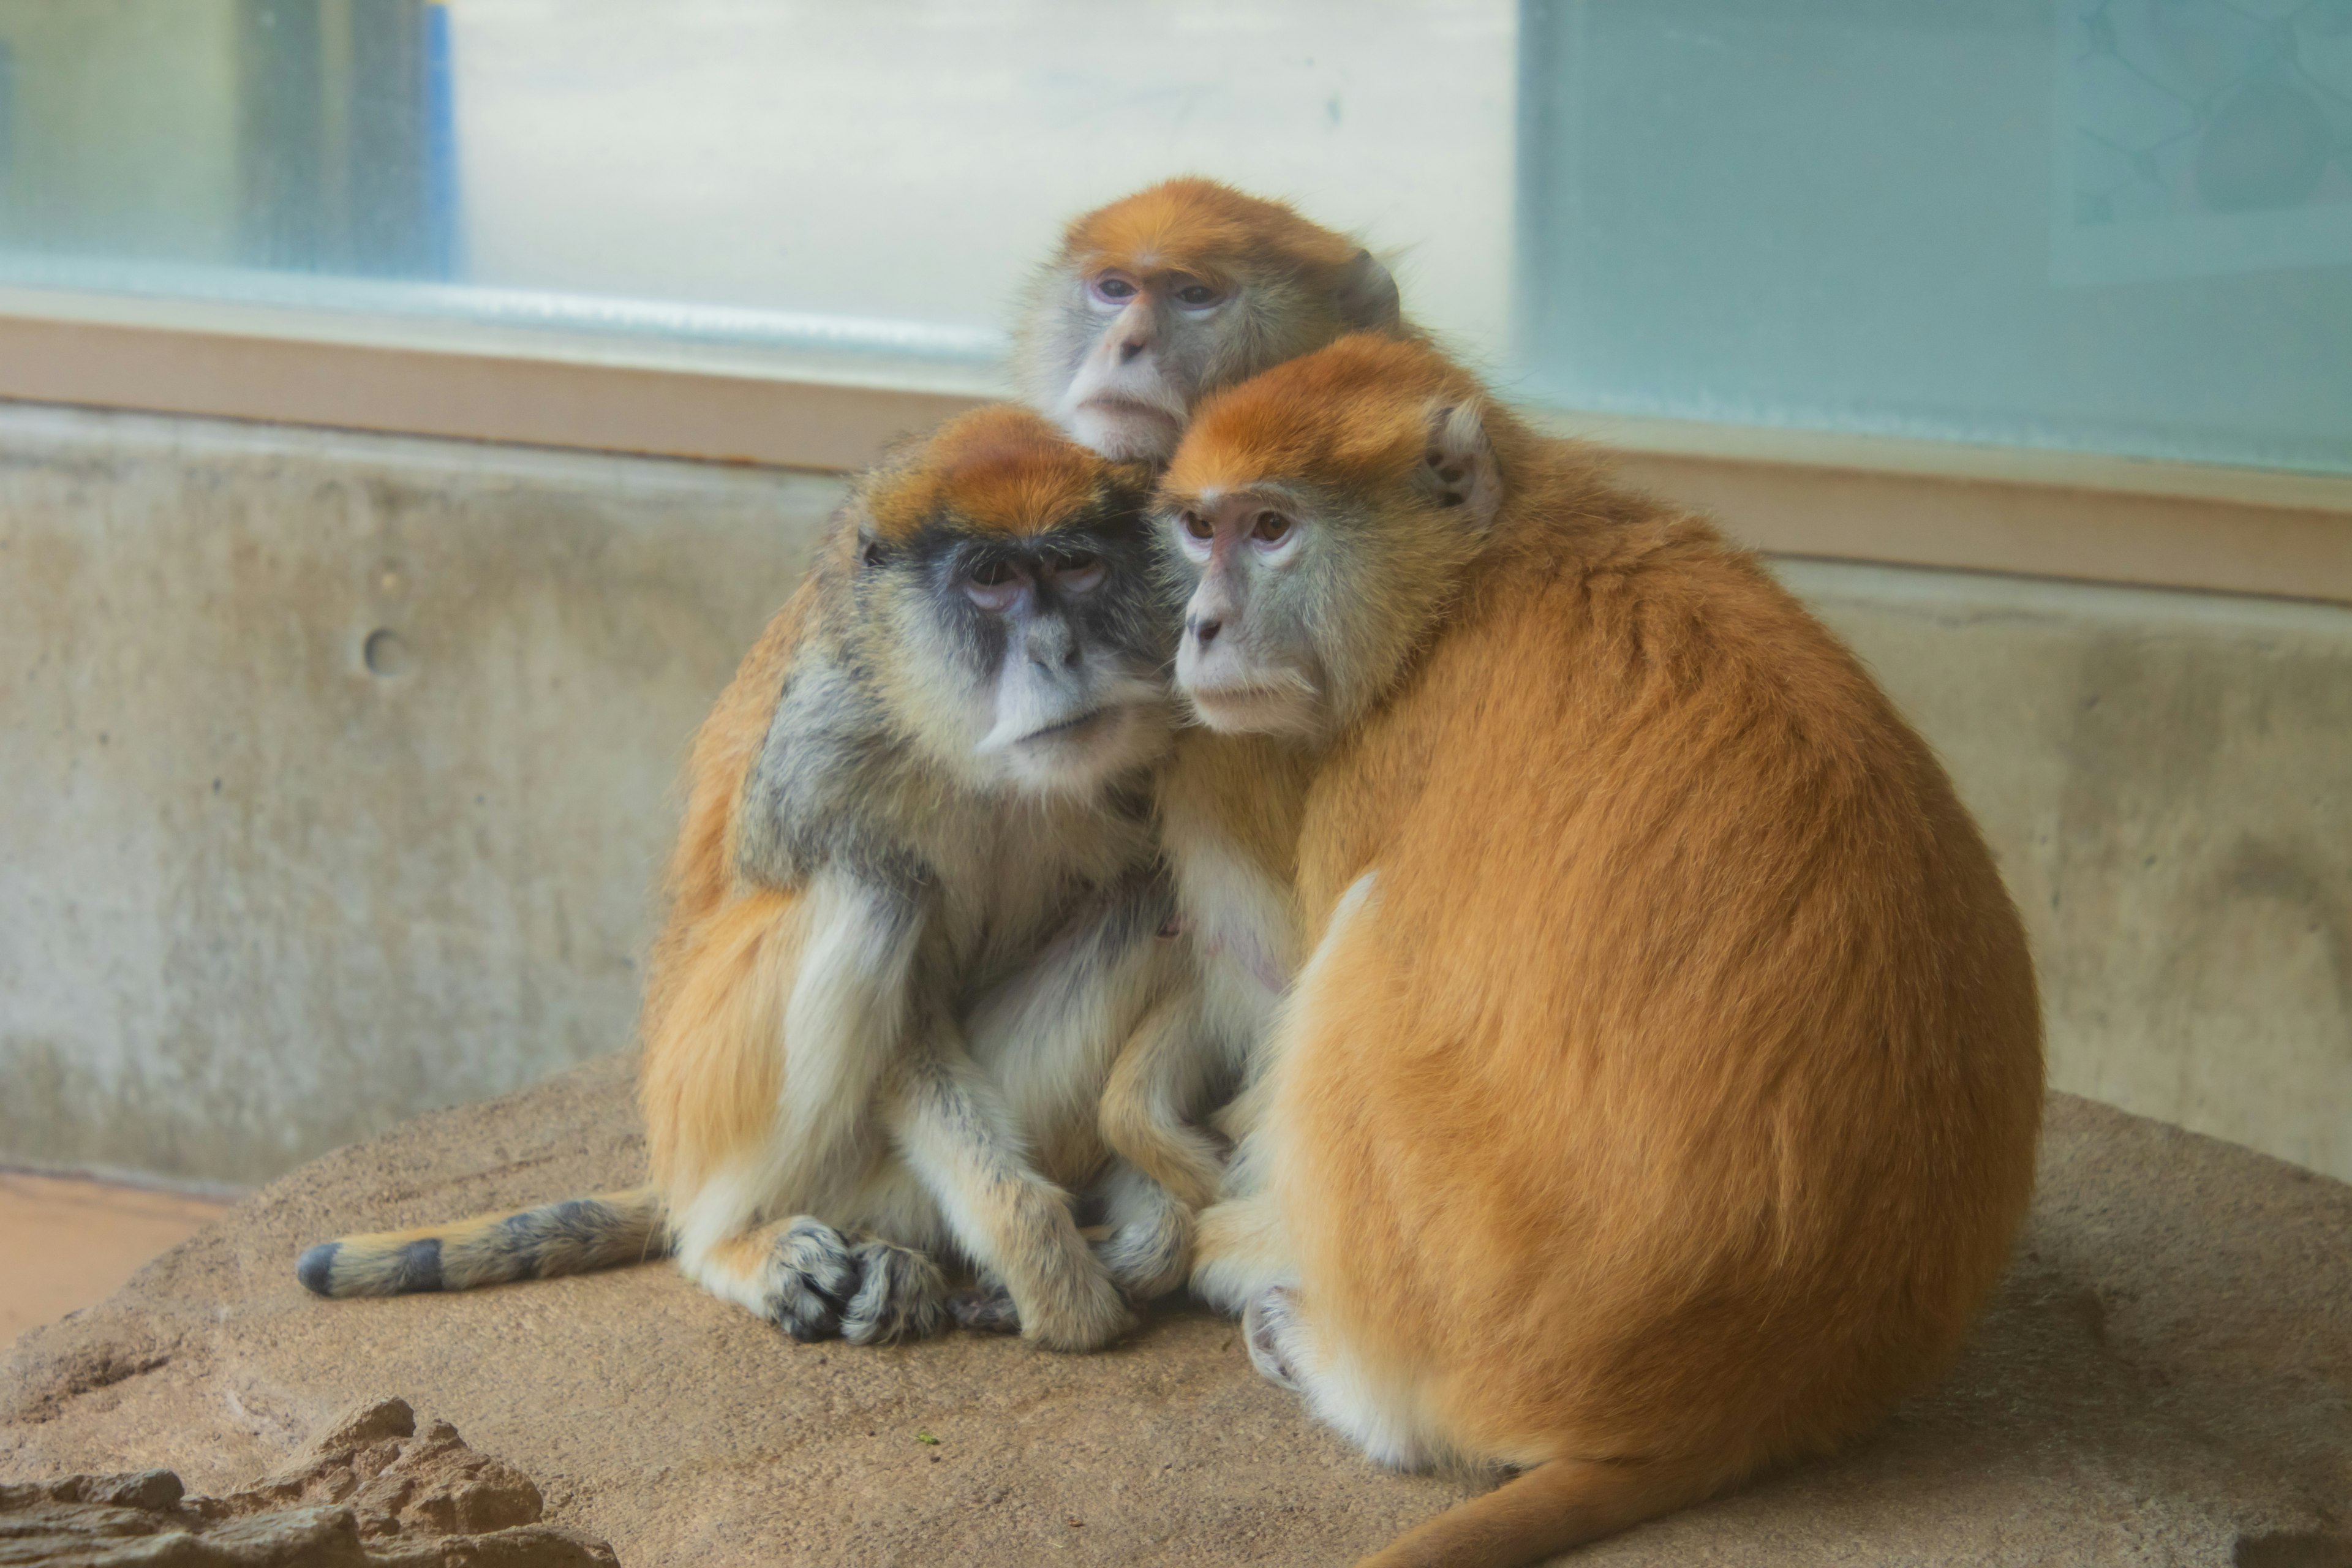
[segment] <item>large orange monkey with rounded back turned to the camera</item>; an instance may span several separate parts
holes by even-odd
[[[2025,1213],[2042,1020],[1856,658],[1411,341],[1209,400],[1160,508],[1181,693],[1305,759],[1291,853],[1263,802],[1216,846],[1308,957],[1192,1284],[1374,1458],[1517,1472],[1369,1561],[1536,1561],[1929,1382]]]

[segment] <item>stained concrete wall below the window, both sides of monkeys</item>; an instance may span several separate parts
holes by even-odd
[[[0,404],[0,1161],[247,1182],[628,1044],[826,477]],[[2352,1175],[2352,611],[1788,562],[2065,1088]]]

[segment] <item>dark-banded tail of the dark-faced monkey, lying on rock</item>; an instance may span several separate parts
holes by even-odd
[[[633,1187],[454,1225],[320,1241],[294,1265],[294,1276],[320,1295],[407,1295],[586,1274],[668,1251],[661,1197]]]

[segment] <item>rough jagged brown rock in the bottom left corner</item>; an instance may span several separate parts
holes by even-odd
[[[614,1568],[445,1420],[376,1399],[285,1469],[188,1497],[169,1469],[0,1483],[0,1568]]]

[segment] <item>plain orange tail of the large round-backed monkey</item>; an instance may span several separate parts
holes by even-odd
[[[1722,1490],[1719,1465],[1552,1460],[1406,1530],[1357,1568],[1522,1568]]]

